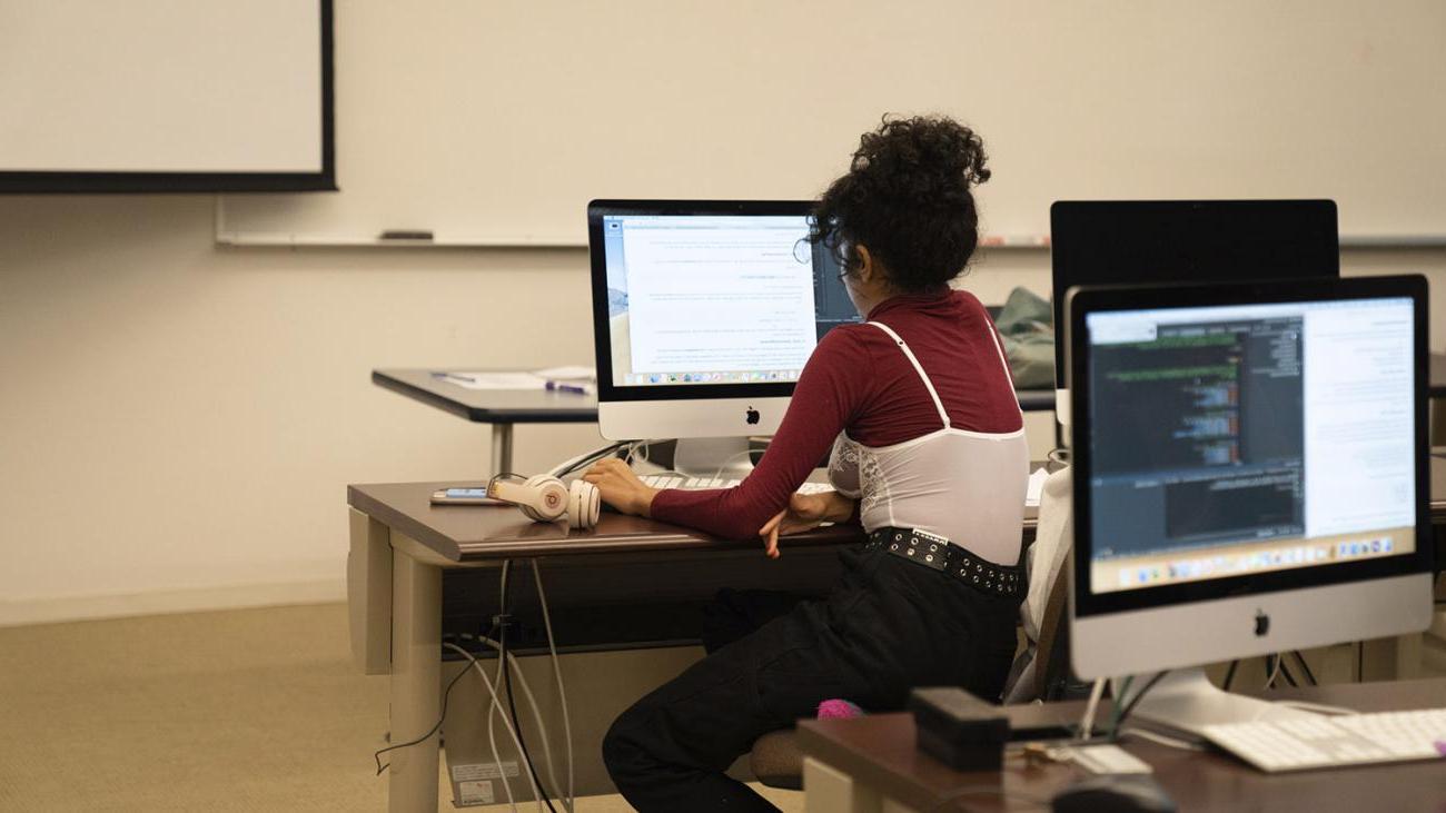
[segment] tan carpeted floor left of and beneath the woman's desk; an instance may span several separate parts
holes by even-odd
[[[0,629],[0,810],[385,810],[386,709],[344,605]]]

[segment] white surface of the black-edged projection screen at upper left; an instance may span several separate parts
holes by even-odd
[[[321,9],[0,0],[0,172],[321,172]]]

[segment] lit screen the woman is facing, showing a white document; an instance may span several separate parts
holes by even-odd
[[[787,383],[859,321],[807,216],[604,216],[615,386]]]

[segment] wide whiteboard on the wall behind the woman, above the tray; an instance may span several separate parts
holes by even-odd
[[[1446,3],[341,1],[337,194],[233,243],[583,244],[600,197],[811,198],[884,113],[983,136],[983,227],[1054,200],[1333,198],[1446,234]]]

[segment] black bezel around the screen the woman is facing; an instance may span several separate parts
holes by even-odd
[[[607,257],[603,218],[612,216],[811,216],[816,201],[723,200],[594,200],[587,204],[587,253],[593,288],[593,352],[597,363],[597,401],[714,401],[730,398],[788,398],[794,382],[688,383],[681,386],[626,386],[613,383],[612,334],[607,325]]]

